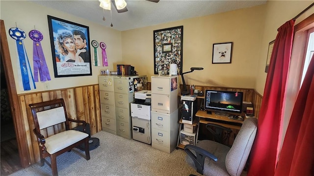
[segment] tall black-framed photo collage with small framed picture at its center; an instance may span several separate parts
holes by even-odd
[[[167,70],[170,64],[177,64],[182,73],[183,60],[183,25],[154,30],[154,74]]]

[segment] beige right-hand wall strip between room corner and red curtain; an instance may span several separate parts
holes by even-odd
[[[306,7],[308,7],[312,0],[268,0],[265,6],[265,25],[262,31],[261,40],[261,54],[259,54],[258,62],[258,72],[256,76],[256,87],[255,89],[263,95],[264,86],[267,74],[264,72],[265,64],[267,59],[267,50],[269,42],[275,40],[277,35],[277,29],[283,25],[285,22],[294,18],[297,14],[302,12]],[[304,19],[305,17],[314,13],[314,8],[312,7],[305,15],[296,20],[298,21]]]

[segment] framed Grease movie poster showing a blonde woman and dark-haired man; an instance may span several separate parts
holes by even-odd
[[[92,75],[89,27],[48,15],[54,77]]]

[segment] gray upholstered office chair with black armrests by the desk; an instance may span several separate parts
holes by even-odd
[[[210,140],[186,145],[185,161],[205,176],[240,176],[250,154],[257,131],[257,119],[245,119],[232,147]]]

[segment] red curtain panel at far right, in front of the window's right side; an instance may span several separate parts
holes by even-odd
[[[275,176],[314,175],[314,55],[295,102]]]

